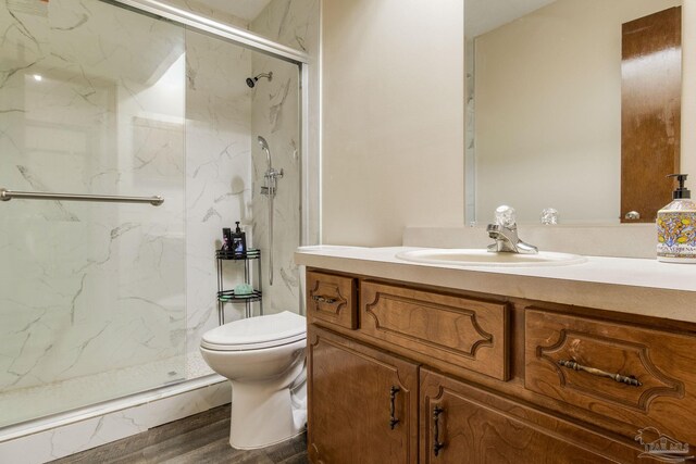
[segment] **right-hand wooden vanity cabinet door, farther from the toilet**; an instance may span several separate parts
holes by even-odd
[[[422,463],[652,462],[606,435],[421,368]]]

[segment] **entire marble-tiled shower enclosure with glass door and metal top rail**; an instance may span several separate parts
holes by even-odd
[[[211,374],[222,228],[269,244],[257,135],[285,172],[264,310],[299,310],[303,53],[148,0],[10,0],[0,26],[0,431]]]

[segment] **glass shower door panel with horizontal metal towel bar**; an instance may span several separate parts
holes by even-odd
[[[185,376],[185,46],[97,0],[0,26],[0,188],[164,198],[0,202],[3,427]]]

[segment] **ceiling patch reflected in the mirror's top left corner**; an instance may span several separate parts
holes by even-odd
[[[465,0],[464,35],[476,37],[556,0]]]

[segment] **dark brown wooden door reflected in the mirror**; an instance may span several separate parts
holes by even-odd
[[[622,27],[622,223],[655,222],[672,198],[666,176],[680,165],[681,43],[681,7]]]

